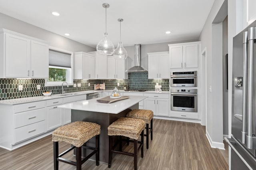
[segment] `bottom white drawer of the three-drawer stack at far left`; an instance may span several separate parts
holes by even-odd
[[[45,121],[33,123],[14,130],[14,143],[31,138],[45,132]]]

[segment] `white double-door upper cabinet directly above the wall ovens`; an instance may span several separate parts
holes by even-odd
[[[169,44],[170,68],[198,67],[200,42]]]

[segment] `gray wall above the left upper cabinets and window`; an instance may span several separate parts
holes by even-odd
[[[25,34],[27,36],[48,41],[50,42],[50,46],[52,47],[64,49],[71,52],[77,52],[77,51],[89,52],[89,51],[96,50],[96,48],[89,47],[88,45],[84,45],[82,43],[78,43],[76,41],[73,41],[63,36],[60,36],[58,34],[49,32],[42,28],[33,26],[26,22],[17,20],[15,18],[12,18],[2,13],[0,13],[0,28],[5,28],[7,30],[18,32],[20,34]]]

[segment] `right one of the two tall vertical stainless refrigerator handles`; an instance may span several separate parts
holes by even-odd
[[[247,136],[246,144],[252,149],[252,71],[253,71],[254,27],[248,30],[248,77],[247,77]]]

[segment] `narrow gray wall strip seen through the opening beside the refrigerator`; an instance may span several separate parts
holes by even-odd
[[[228,53],[228,17],[222,22],[223,134],[228,135],[228,90],[225,55]]]

